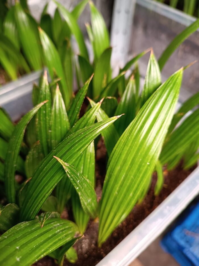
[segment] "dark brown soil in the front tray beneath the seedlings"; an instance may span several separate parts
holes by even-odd
[[[106,173],[106,149],[102,139],[99,140],[96,152],[96,193],[98,199],[101,197],[101,190]],[[148,194],[141,204],[137,204],[128,217],[112,233],[107,241],[102,244],[101,248],[97,246],[98,240],[98,221],[90,220],[84,237],[79,239],[74,247],[78,253],[78,260],[75,264],[64,261],[65,266],[96,265],[105,255],[107,255],[116,245],[118,245],[138,224],[140,224],[185,178],[194,170],[195,167],[188,171],[182,169],[182,162],[172,171],[164,169],[164,185],[159,196],[154,196],[154,187],[157,176],[153,174],[152,184]],[[65,215],[67,217],[68,215]],[[71,217],[71,212],[69,214]],[[34,264],[35,266],[53,266],[55,261],[49,257],[44,257]]]

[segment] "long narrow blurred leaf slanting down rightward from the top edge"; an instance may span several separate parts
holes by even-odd
[[[69,25],[69,28],[71,29],[72,34],[74,34],[74,37],[78,43],[79,49],[80,49],[80,55],[84,56],[84,58],[88,59],[88,52],[86,49],[86,45],[84,42],[84,36],[80,30],[80,27],[78,26],[78,23],[75,19],[75,17],[67,10],[63,5],[61,5],[59,2],[55,1],[55,4],[57,5],[61,15]]]

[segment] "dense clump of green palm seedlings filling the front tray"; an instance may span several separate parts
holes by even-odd
[[[136,63],[148,51],[132,58],[112,79],[108,31],[94,4],[89,4],[92,27],[87,25],[87,29],[94,51],[92,64],[75,20],[77,12],[71,14],[57,3],[79,46],[76,75],[80,74],[82,88],[73,96],[55,44],[39,29],[52,81],[48,82],[44,72],[32,91],[34,107],[16,125],[0,109],[1,265],[31,265],[45,255],[60,265],[65,256],[74,261],[72,246],[84,234],[90,218],[94,222],[99,218],[101,246],[145,197],[154,171],[158,176],[155,194],[159,194],[163,165],[172,169],[183,159],[183,167],[190,168],[199,157],[199,93],[175,113],[186,67],[163,84],[160,72],[177,46],[198,28],[199,21],[177,36],[158,62],[150,49],[140,93]],[[130,76],[125,76],[134,65]],[[66,70],[67,66],[66,60]],[[86,95],[90,96],[89,104],[80,117]],[[176,127],[190,110],[192,113]],[[99,135],[108,161],[98,202],[94,190],[94,141]],[[72,209],[74,222],[60,218],[66,207]]]

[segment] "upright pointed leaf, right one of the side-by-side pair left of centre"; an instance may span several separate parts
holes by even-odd
[[[69,123],[64,101],[61,96],[59,86],[57,85],[50,120],[51,149],[53,149],[55,146],[57,146],[57,144],[59,144],[63,140],[70,128],[71,125]]]

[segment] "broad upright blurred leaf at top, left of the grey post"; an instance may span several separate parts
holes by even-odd
[[[94,41],[94,54],[95,58],[98,59],[109,44],[109,33],[104,22],[101,13],[96,9],[94,3],[89,1],[90,12],[91,12],[91,25]]]

